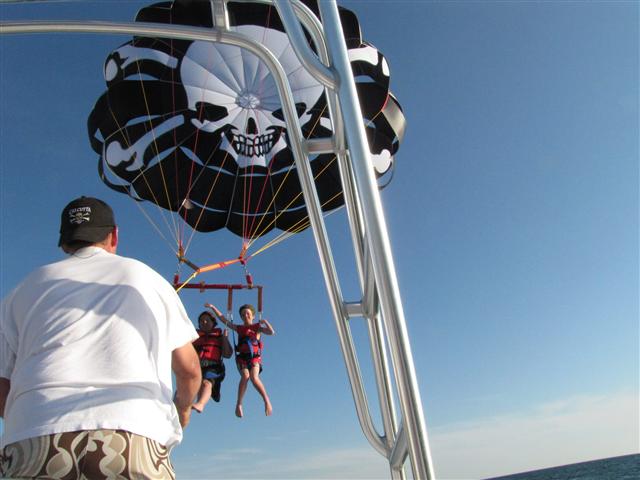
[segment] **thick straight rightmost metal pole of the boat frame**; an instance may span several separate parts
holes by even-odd
[[[373,270],[380,295],[380,307],[390,339],[398,383],[400,407],[405,423],[409,456],[415,478],[433,478],[433,465],[422,414],[415,367],[400,300],[395,267],[380,196],[369,161],[367,138],[358,104],[351,64],[335,0],[318,2],[331,64],[339,75],[338,98],[342,107],[347,146],[351,153]]]

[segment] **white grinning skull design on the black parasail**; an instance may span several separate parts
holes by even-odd
[[[239,25],[236,30],[259,38],[264,29]],[[280,52],[278,59],[288,75],[300,123],[305,125],[323,88],[302,68],[286,34],[272,30],[263,37],[269,50]],[[238,58],[241,65],[231,72],[228,65]],[[266,167],[275,154],[288,148],[275,81],[255,55],[232,45],[193,42],[180,71],[194,114],[192,124],[199,130],[218,132],[218,148],[228,152],[239,167]]]

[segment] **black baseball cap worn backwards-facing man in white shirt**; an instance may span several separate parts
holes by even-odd
[[[76,198],[62,210],[58,246],[76,240],[100,242],[115,226],[109,205],[93,197]]]

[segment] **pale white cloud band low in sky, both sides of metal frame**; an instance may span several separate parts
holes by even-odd
[[[429,430],[438,480],[480,479],[640,452],[637,392],[581,396],[509,415]],[[389,478],[372,448],[327,448],[273,456],[268,448],[219,450],[176,462],[181,479]],[[410,475],[410,468],[407,468]]]

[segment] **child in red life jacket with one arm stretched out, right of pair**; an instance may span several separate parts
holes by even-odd
[[[240,372],[240,383],[238,384],[238,400],[236,401],[236,416],[242,417],[242,399],[247,391],[249,380],[258,391],[264,401],[265,415],[271,415],[273,408],[269,401],[267,391],[260,380],[262,371],[262,342],[260,335],[274,335],[276,332],[267,320],[260,320],[253,323],[255,318],[255,308],[253,305],[243,305],[240,307],[240,318],[242,325],[229,322],[224,315],[214,305],[205,304],[216,314],[218,319],[227,327],[238,333],[238,345],[236,346],[236,365]]]

